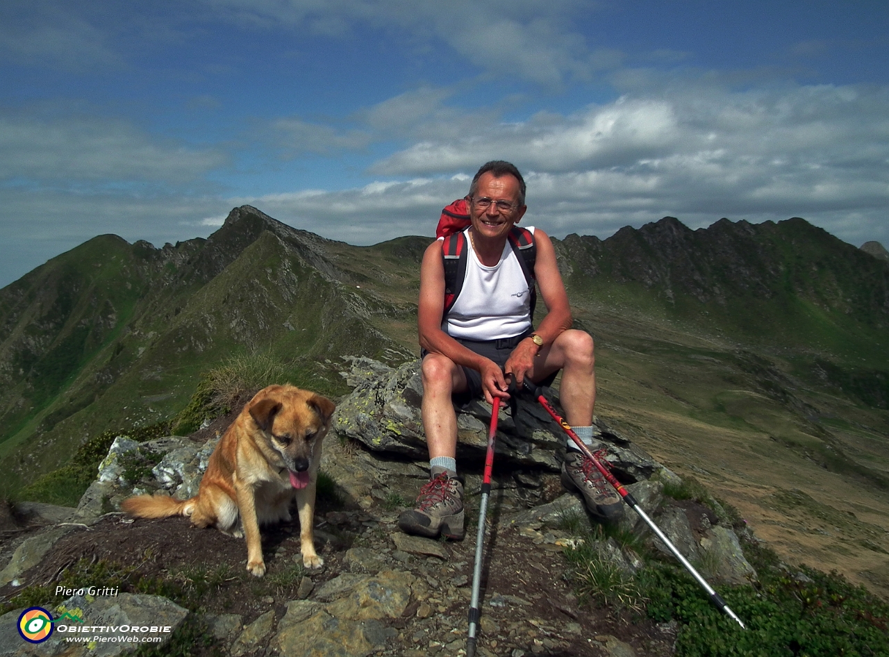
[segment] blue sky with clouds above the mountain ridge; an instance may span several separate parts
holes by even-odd
[[[886,26],[853,0],[5,0],[0,285],[240,204],[431,235],[493,158],[558,237],[801,216],[889,245]]]

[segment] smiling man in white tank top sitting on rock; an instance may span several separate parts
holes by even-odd
[[[420,269],[418,325],[423,349],[423,428],[429,450],[429,482],[416,508],[398,518],[405,533],[461,539],[465,533],[463,480],[457,476],[457,415],[453,402],[484,395],[509,398],[504,373],[521,388],[525,378],[549,385],[562,370],[560,399],[565,420],[595,451],[596,402],[593,339],[572,329],[571,309],[549,236],[528,227],[536,244],[533,266],[547,315],[535,330],[529,286],[509,232],[525,214],[525,180],[513,164],[482,166],[472,179],[466,275],[445,314],[445,259],[442,241],[430,244]],[[533,284],[532,284],[533,285]],[[615,521],[620,496],[573,441],[562,464],[562,483],[581,492],[594,516]]]

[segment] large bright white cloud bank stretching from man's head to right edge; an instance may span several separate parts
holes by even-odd
[[[493,157],[528,172],[529,203],[536,199],[565,229],[584,232],[595,229],[584,225],[590,212],[709,213],[711,220],[877,212],[889,202],[889,89],[702,85],[625,96],[569,116],[480,124],[459,140],[424,140],[372,171],[471,172]]]

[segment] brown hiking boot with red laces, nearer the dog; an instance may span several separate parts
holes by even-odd
[[[428,484],[420,488],[415,509],[404,511],[398,517],[398,527],[404,533],[434,539],[438,534],[460,541],[463,528],[463,479],[448,477],[447,473],[433,468]]]

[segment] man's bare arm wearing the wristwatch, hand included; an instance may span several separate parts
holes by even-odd
[[[537,333],[546,347],[556,340],[563,331],[571,328],[571,308],[568,305],[568,294],[559,273],[556,261],[556,249],[549,236],[540,228],[534,230],[534,243],[537,244],[537,259],[534,263],[534,276],[541,290],[541,297],[547,306],[547,315],[538,325]],[[542,349],[542,348],[541,348]],[[525,372],[532,369],[538,347],[531,338],[519,342],[506,364],[506,371],[516,375],[516,382],[521,386],[525,380]]]

